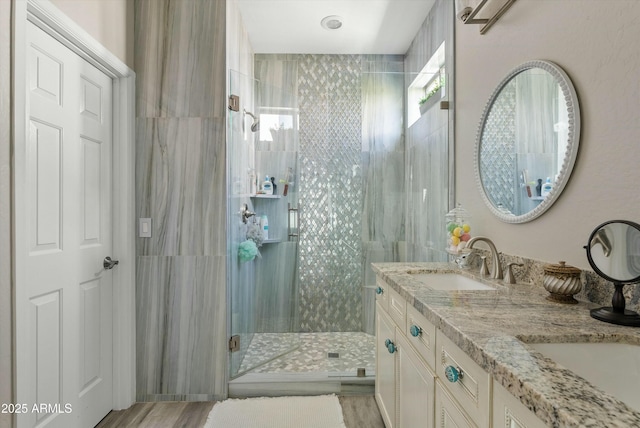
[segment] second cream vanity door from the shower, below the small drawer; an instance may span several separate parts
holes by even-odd
[[[434,426],[435,375],[403,335],[396,332],[396,339],[398,426],[431,428]]]

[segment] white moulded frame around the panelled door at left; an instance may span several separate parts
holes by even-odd
[[[113,79],[113,257],[120,261],[113,270],[113,406],[126,409],[136,397],[135,334],[135,73],[94,40],[78,24],[48,0],[14,0],[13,12],[13,252],[14,328],[24,325],[26,314],[16,312],[16,302],[25,299],[25,255],[28,224],[25,221],[26,167],[26,75],[27,21],[32,22]],[[14,331],[14,334],[20,334]],[[16,336],[14,336],[16,337]],[[14,341],[15,345],[15,341]],[[14,358],[14,399],[21,402],[17,379],[28,368]],[[24,402],[24,401],[22,401]]]

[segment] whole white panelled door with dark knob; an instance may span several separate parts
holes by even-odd
[[[112,82],[27,24],[28,222],[17,287],[19,426],[92,427],[112,409]],[[35,407],[34,407],[35,406]]]

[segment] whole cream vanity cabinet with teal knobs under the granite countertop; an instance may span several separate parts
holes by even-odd
[[[376,281],[376,401],[387,428],[545,427],[420,311]]]

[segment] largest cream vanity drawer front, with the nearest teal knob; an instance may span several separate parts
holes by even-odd
[[[491,392],[489,374],[440,330],[436,333],[436,346],[436,375],[478,427],[488,427]],[[456,381],[447,379],[445,370],[449,366],[462,372],[462,376]]]

